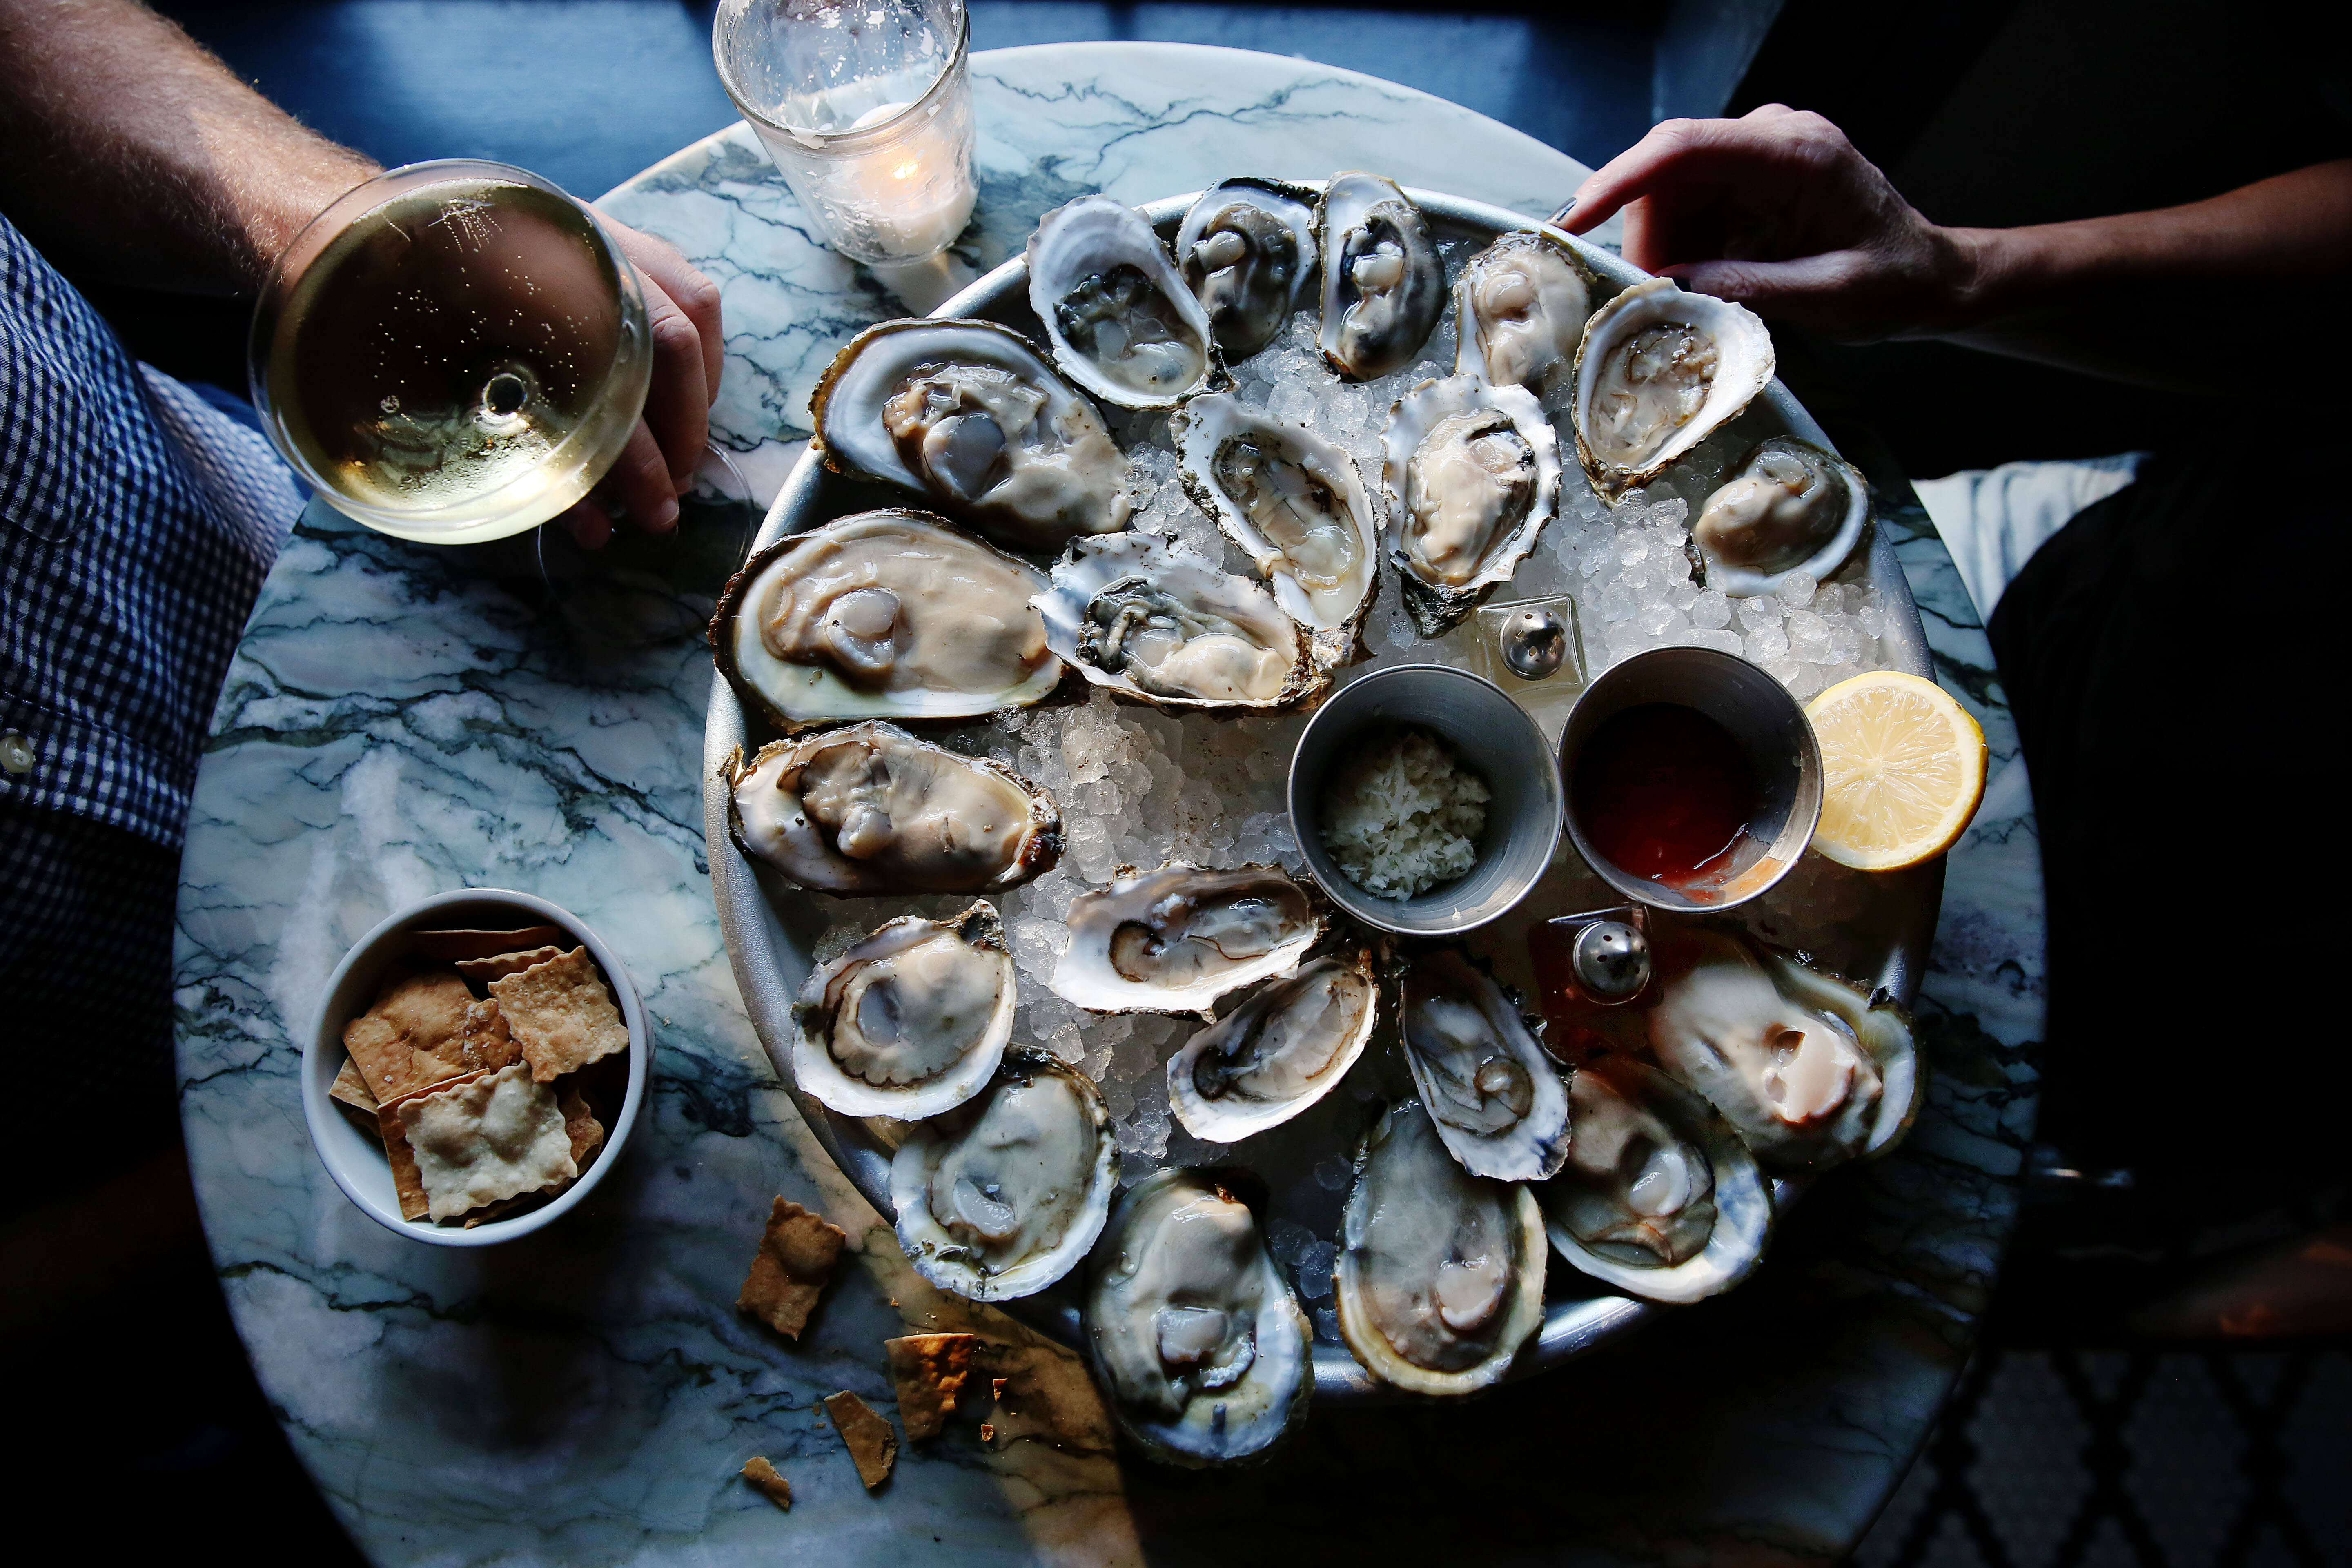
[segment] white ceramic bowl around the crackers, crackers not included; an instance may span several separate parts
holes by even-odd
[[[336,1110],[327,1091],[334,1086],[334,1074],[343,1070],[343,1025],[367,1011],[367,1004],[376,997],[376,985],[383,971],[390,969],[402,954],[405,943],[400,940],[412,929],[454,929],[454,931],[515,931],[522,926],[562,926],[569,931],[588,957],[595,959],[597,969],[604,971],[604,980],[612,985],[614,1001],[621,1006],[621,1023],[628,1025],[628,1093],[621,1098],[621,1114],[614,1126],[604,1128],[604,1147],[597,1150],[595,1159],[572,1182],[553,1204],[541,1204],[529,1213],[517,1213],[510,1220],[485,1220],[473,1229],[456,1225],[426,1225],[421,1220],[400,1218],[400,1194],[393,1190],[393,1166],[383,1157],[383,1145],[372,1140],[350,1117]],[[310,1147],[318,1150],[320,1164],[327,1166],[327,1175],[334,1185],[343,1190],[353,1204],[360,1206],[376,1225],[407,1237],[409,1241],[428,1241],[433,1246],[496,1246],[499,1241],[513,1241],[515,1237],[527,1237],[543,1225],[553,1225],[562,1215],[588,1197],[588,1192],[604,1180],[614,1161],[621,1159],[621,1147],[628,1145],[630,1128],[637,1126],[637,1112],[644,1105],[644,1074],[652,1058],[652,1039],[644,1030],[644,1006],[637,1001],[637,987],[630,983],[628,971],[621,969],[621,959],[614,957],[612,947],[604,945],[595,931],[590,931],[576,914],[560,910],[546,898],[532,898],[529,893],[508,893],[503,889],[459,889],[454,893],[435,893],[421,903],[412,903],[405,910],[395,910],[374,931],[362,936],[343,954],[343,961],[334,966],[327,976],[327,990],[320,997],[318,1013],[310,1018],[310,1037],[303,1041],[301,1053],[301,1112],[303,1121],[310,1124]]]

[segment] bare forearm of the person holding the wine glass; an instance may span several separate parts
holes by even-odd
[[[374,165],[132,0],[0,0],[0,209],[54,261],[252,289]]]

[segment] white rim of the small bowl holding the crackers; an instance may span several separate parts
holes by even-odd
[[[466,903],[508,903],[539,914],[539,924],[562,926],[576,936],[597,961],[597,969],[604,971],[604,978],[614,980],[614,999],[621,1004],[621,1023],[628,1025],[628,1091],[621,1095],[621,1114],[614,1119],[616,1124],[607,1128],[604,1147],[597,1150],[597,1157],[555,1201],[541,1204],[539,1208],[520,1213],[510,1220],[485,1220],[473,1229],[421,1225],[416,1220],[400,1218],[397,1206],[386,1206],[376,1194],[362,1190],[362,1185],[343,1168],[343,1161],[329,1154],[332,1145],[320,1135],[320,1128],[329,1126],[329,1119],[336,1124],[343,1121],[343,1112],[339,1112],[334,1100],[327,1095],[327,1088],[334,1084],[334,1074],[341,1072],[341,1063],[334,1063],[334,1053],[343,1051],[343,1023],[348,1023],[341,1018],[329,1023],[327,1006],[341,990],[343,976],[372,957],[386,938],[412,929],[416,917]],[[334,1030],[332,1037],[329,1030]],[[407,1237],[409,1241],[423,1241],[428,1246],[496,1246],[553,1225],[557,1218],[572,1213],[572,1206],[588,1197],[590,1187],[604,1180],[604,1171],[609,1171],[621,1157],[621,1147],[628,1143],[628,1133],[635,1128],[637,1112],[644,1105],[647,1058],[649,1044],[644,1030],[644,1004],[637,999],[637,983],[628,978],[628,969],[623,969],[621,959],[604,945],[604,938],[588,929],[588,922],[534,893],[517,893],[513,889],[452,889],[447,893],[419,898],[416,903],[402,905],[379,919],[367,936],[350,945],[343,959],[334,966],[334,973],[327,976],[327,983],[318,994],[318,1006],[310,1011],[310,1032],[301,1048],[301,1114],[303,1126],[310,1133],[310,1152],[318,1157],[318,1164],[327,1168],[327,1175],[343,1190],[343,1197],[350,1199],[353,1206],[369,1220],[393,1234]],[[334,1063],[334,1070],[327,1070],[327,1063]]]

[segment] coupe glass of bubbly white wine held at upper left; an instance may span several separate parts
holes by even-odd
[[[346,190],[294,237],[247,374],[278,451],[336,510],[459,545],[586,496],[654,353],[637,273],[588,207],[452,158]]]

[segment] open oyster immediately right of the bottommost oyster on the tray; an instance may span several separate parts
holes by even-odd
[[[1543,1326],[1543,1215],[1526,1187],[1446,1159],[1416,1103],[1364,1138],[1341,1215],[1338,1333],[1381,1382],[1470,1394]]]

